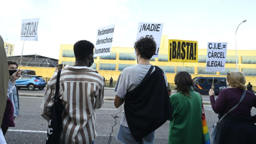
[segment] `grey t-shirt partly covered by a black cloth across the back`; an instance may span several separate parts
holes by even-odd
[[[150,67],[151,65],[138,64],[135,66],[125,68],[117,79],[116,87],[115,87],[116,95],[119,98],[125,99],[126,93],[130,92],[141,83],[142,79],[148,73],[148,70]],[[153,73],[153,71],[155,71],[155,67],[153,68],[151,73]],[[164,73],[164,79],[167,87],[167,78],[165,73]],[[125,118],[124,110],[123,110],[123,114],[124,115],[121,119],[121,125],[129,127]]]

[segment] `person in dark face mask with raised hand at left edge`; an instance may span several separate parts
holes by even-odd
[[[15,81],[20,77],[20,72],[18,69],[18,63],[15,61],[7,61],[9,75],[10,75],[10,82],[9,87],[12,89],[7,97],[7,104],[6,109],[3,117],[3,122],[1,125],[1,129],[3,134],[5,135],[9,127],[14,127],[14,119],[19,115],[19,93],[18,88],[15,86]],[[15,79],[13,79],[13,75],[18,74]],[[12,86],[10,86],[10,84]]]

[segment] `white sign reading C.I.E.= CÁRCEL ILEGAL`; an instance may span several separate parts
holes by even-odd
[[[205,71],[225,71],[227,44],[208,43]]]

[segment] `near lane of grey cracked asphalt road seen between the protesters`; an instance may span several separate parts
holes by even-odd
[[[5,135],[7,143],[45,143],[47,122],[40,115],[42,98],[20,97],[20,115],[15,118],[15,127],[10,127]],[[217,114],[210,105],[204,105],[209,132],[218,121]],[[95,143],[119,143],[116,135],[122,117],[123,106],[114,107],[113,101],[105,101],[101,109],[96,110],[98,137]],[[255,108],[252,115],[256,114]],[[154,143],[167,143],[169,123],[159,127]]]

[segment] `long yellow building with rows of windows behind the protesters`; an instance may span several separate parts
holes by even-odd
[[[174,76],[179,71],[188,71],[191,76],[205,76],[205,77],[226,77],[228,71],[236,70],[236,54],[235,50],[227,51],[225,71],[208,72],[205,71],[206,66],[206,49],[198,50],[198,63],[182,63],[182,62],[168,62],[168,39],[167,36],[162,36],[161,45],[158,58],[151,58],[152,65],[162,68],[167,76],[169,83],[174,83]],[[73,52],[74,45],[60,45],[59,63],[65,65],[74,65],[75,55]],[[243,71],[246,76],[246,82],[251,82],[256,85],[256,51],[239,50],[237,51],[238,68]],[[136,65],[134,48],[133,47],[112,47],[110,55],[101,57],[94,57],[92,68],[96,69],[99,74],[105,76],[106,80],[113,77],[117,80],[121,71],[129,66]]]

